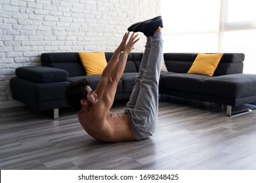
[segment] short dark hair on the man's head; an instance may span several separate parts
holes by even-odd
[[[86,78],[71,82],[65,90],[66,101],[70,107],[75,111],[81,109],[81,99],[87,99],[87,91],[85,87],[90,84],[90,81]]]

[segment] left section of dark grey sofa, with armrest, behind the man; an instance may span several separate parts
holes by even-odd
[[[112,54],[105,53],[107,61]],[[116,100],[130,97],[142,56],[142,53],[129,54],[117,86]],[[68,107],[64,96],[66,86],[80,78],[88,78],[94,90],[100,76],[86,75],[77,52],[44,53],[41,66],[16,69],[16,77],[10,82],[12,97],[37,111],[53,110],[54,118],[58,118],[58,108]]]

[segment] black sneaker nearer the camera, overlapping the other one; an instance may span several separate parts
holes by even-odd
[[[136,25],[133,28],[133,32],[142,32],[146,37],[154,35],[155,31],[158,27],[163,27],[163,22],[161,20],[161,16],[157,16],[150,20],[146,20],[144,22],[140,22],[140,24]]]

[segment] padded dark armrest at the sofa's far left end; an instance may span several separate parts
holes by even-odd
[[[44,66],[19,67],[15,71],[16,76],[33,80],[39,83],[66,81],[68,73],[62,69]]]

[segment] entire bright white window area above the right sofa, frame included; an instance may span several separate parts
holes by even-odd
[[[164,52],[242,52],[256,74],[254,0],[161,0]]]

